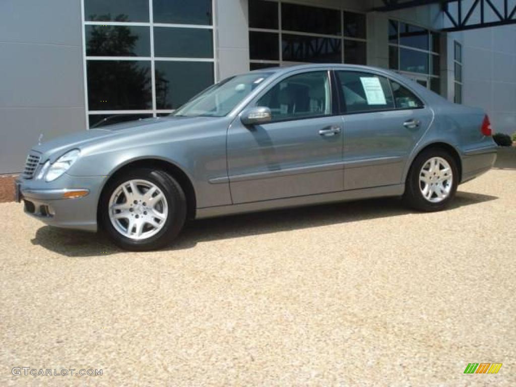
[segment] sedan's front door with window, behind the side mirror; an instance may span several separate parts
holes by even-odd
[[[258,96],[272,120],[228,131],[234,204],[344,189],[342,118],[333,116],[328,71],[298,72]]]

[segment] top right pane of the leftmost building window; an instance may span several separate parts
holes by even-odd
[[[212,24],[212,0],[153,1],[154,23]]]

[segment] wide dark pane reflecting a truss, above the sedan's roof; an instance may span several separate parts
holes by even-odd
[[[283,34],[283,60],[341,63],[341,39]]]

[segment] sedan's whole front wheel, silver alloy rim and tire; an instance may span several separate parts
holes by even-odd
[[[103,228],[118,246],[155,250],[169,244],[183,228],[186,198],[166,172],[137,168],[108,183],[100,211]]]

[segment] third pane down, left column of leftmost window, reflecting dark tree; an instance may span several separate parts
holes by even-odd
[[[151,62],[88,60],[90,110],[144,110],[152,107]]]

